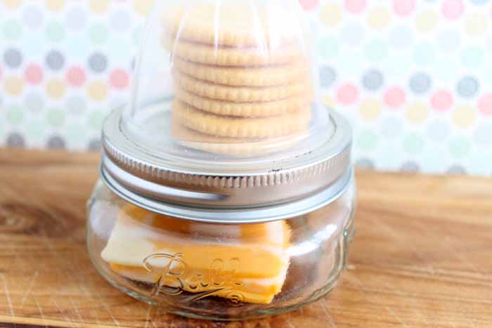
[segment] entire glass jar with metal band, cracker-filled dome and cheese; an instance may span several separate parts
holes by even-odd
[[[156,1],[131,102],[103,126],[89,254],[167,310],[242,320],[325,295],[356,202],[297,0]]]

